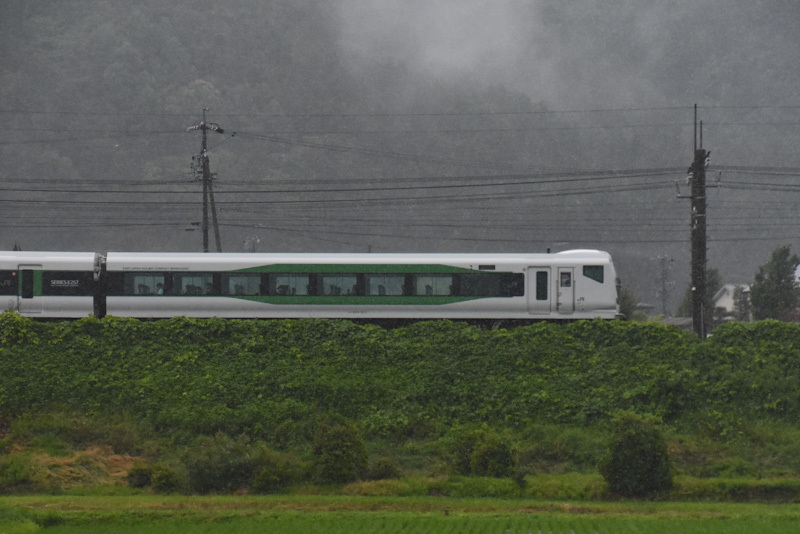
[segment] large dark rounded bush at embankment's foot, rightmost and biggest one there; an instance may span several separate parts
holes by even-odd
[[[622,413],[613,421],[614,438],[601,460],[608,489],[623,497],[652,497],[672,488],[667,443],[655,421]]]

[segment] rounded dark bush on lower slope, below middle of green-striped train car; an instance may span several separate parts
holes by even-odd
[[[367,469],[367,451],[352,424],[324,424],[314,437],[315,477],[321,483],[346,483],[361,478]]]

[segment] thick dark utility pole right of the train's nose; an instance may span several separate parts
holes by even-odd
[[[706,167],[711,152],[703,149],[703,123],[697,147],[697,104],[694,106],[694,161],[689,167],[692,184],[692,328],[701,339],[708,332],[705,324],[706,301]]]

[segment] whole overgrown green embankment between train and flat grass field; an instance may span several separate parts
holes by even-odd
[[[800,326],[776,321],[700,341],[629,322],[384,330],[4,313],[0,492],[794,502],[797,347]],[[626,417],[658,435],[614,426]],[[624,435],[643,445],[621,465],[666,450],[671,490],[604,480]]]

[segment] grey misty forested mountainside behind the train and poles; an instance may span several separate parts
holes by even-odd
[[[0,48],[5,249],[201,250],[208,108],[225,251],[599,248],[674,310],[695,103],[709,266],[800,248],[790,0],[6,0]]]

